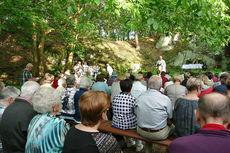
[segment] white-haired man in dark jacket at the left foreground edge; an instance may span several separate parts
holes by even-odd
[[[27,129],[31,119],[37,114],[32,106],[32,97],[40,85],[27,81],[21,88],[21,96],[9,105],[0,122],[0,134],[3,150],[10,153],[24,153]]]

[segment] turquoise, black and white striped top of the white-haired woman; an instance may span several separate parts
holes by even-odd
[[[69,124],[51,114],[38,114],[28,128],[26,153],[61,153]]]

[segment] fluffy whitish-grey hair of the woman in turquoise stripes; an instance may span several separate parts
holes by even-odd
[[[50,113],[53,106],[61,105],[61,98],[53,88],[40,88],[33,96],[33,108],[38,113]]]

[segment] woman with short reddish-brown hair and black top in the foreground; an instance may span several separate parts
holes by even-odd
[[[67,132],[63,153],[120,153],[116,139],[98,131],[110,107],[110,96],[102,91],[87,91],[78,104],[81,123]]]

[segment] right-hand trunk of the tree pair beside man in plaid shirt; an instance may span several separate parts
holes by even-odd
[[[38,69],[39,69],[39,76],[44,76],[45,74],[45,58],[44,58],[44,45],[45,45],[45,31],[41,28],[41,36],[40,36],[40,41],[38,45],[38,53],[39,53],[39,64],[38,64]]]

